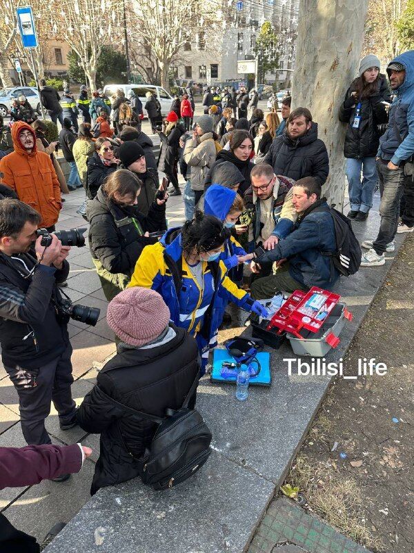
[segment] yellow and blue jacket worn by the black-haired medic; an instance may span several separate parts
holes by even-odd
[[[219,292],[248,311],[253,299],[226,276],[222,261],[202,262],[204,290],[201,290],[182,255],[179,231],[179,228],[168,229],[157,244],[144,248],[128,288],[142,286],[161,294],[172,322],[195,335],[200,350],[204,351],[218,327]]]

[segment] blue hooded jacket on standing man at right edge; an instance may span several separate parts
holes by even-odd
[[[402,64],[406,75],[404,82],[396,90],[397,96],[389,111],[388,129],[380,138],[377,156],[383,160],[391,160],[394,165],[400,165],[414,154],[414,50],[395,57],[390,62],[393,63]]]

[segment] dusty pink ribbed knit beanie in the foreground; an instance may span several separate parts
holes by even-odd
[[[161,335],[170,321],[170,310],[158,292],[134,286],[110,301],[106,321],[122,341],[140,347]]]

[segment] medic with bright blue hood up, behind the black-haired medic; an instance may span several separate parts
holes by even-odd
[[[235,190],[220,185],[212,185],[206,191],[206,196],[204,198],[204,213],[219,218],[220,221],[223,221],[224,227],[230,229],[230,237],[224,243],[219,259],[223,261],[228,271],[228,277],[238,285],[243,279],[243,263],[253,259],[253,254],[247,254],[235,239],[235,225],[239,216],[242,215],[243,210],[243,198],[239,196]],[[221,306],[219,305],[220,299]],[[226,319],[224,319],[229,299],[226,290],[223,289],[219,292],[214,313],[215,325],[217,326],[215,335],[217,335],[218,329],[223,321],[231,321],[231,317],[228,313],[226,314]]]

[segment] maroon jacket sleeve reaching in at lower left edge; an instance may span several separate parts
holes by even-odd
[[[41,480],[79,472],[81,467],[78,444],[0,447],[0,489],[39,484]]]

